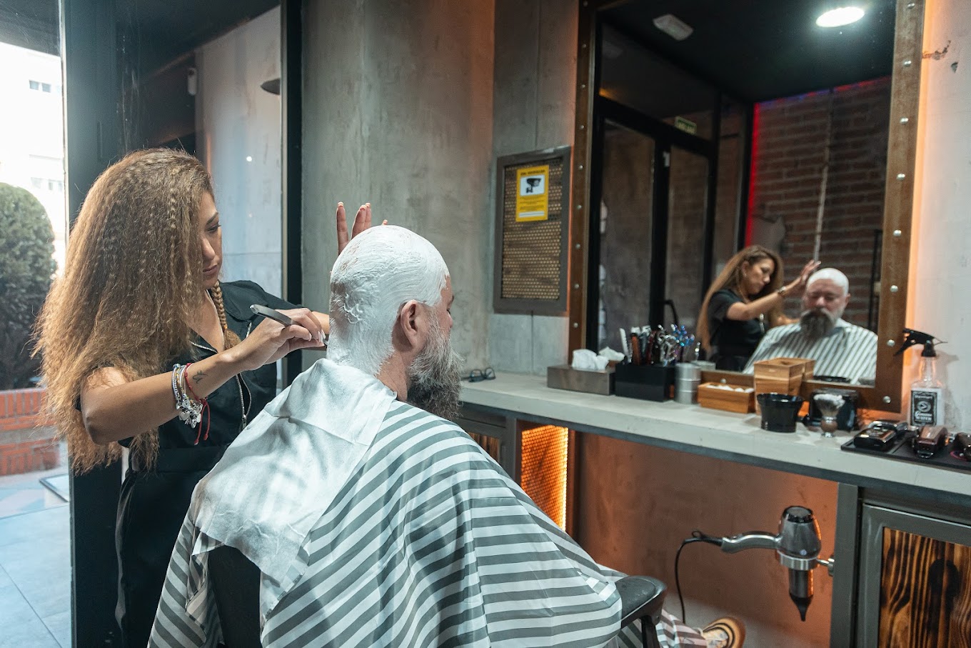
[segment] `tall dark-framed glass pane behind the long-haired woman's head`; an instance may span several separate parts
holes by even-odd
[[[122,8],[123,5],[123,8]],[[174,147],[210,170],[223,281],[283,287],[279,0],[119,3],[122,151]]]

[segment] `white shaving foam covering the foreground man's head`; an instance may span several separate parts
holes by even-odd
[[[427,239],[397,225],[355,236],[330,273],[327,358],[376,375],[391,356],[391,331],[405,302],[434,307],[449,268]]]

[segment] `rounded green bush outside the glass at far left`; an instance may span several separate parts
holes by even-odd
[[[0,183],[0,390],[31,387],[31,327],[56,269],[44,206],[27,189]]]

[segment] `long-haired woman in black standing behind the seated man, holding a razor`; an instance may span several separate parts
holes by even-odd
[[[369,217],[362,207],[354,230]],[[340,245],[343,207],[338,229]],[[326,315],[256,284],[220,282],[221,263],[202,163],[166,149],[131,153],[84,199],[64,276],[38,321],[47,405],[74,470],[128,451],[116,531],[124,646],[149,641],[196,483],[276,394],[274,362],[322,347],[329,327]],[[251,304],[294,324],[253,315]]]

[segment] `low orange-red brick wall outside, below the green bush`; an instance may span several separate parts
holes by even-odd
[[[0,392],[0,475],[48,470],[60,463],[54,429],[41,416],[43,389]]]

